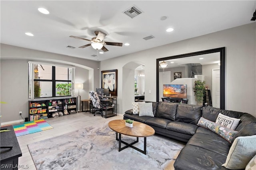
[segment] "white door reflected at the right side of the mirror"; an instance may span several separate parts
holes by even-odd
[[[220,69],[212,69],[212,107],[220,108]]]

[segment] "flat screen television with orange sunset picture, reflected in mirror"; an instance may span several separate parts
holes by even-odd
[[[164,97],[187,99],[186,84],[164,84]]]

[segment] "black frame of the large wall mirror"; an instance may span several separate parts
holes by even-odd
[[[220,109],[225,109],[225,47],[156,59],[156,102],[159,102],[159,61],[220,52]]]

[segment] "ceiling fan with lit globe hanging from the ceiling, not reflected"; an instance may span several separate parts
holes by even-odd
[[[77,38],[77,39],[83,39],[83,40],[91,42],[90,44],[83,45],[83,46],[81,46],[79,48],[84,48],[84,47],[88,47],[88,46],[91,45],[92,48],[94,48],[96,50],[102,49],[102,51],[104,51],[104,52],[108,51],[108,49],[106,49],[106,47],[104,47],[104,45],[114,45],[114,46],[120,46],[120,47],[122,47],[122,45],[123,45],[123,43],[104,42],[103,39],[106,37],[107,34],[105,34],[103,32],[94,31],[94,34],[97,37],[93,37],[92,40],[81,38],[81,37],[76,37],[76,36],[72,36],[72,35],[69,36],[69,37]]]

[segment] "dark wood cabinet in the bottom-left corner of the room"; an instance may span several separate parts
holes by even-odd
[[[2,129],[7,128],[7,132],[1,132],[1,147],[12,146],[12,149],[2,148],[1,149],[1,170],[18,170],[18,158],[22,156],[20,150],[20,145],[18,143],[17,137],[14,133],[12,126],[2,127]],[[25,165],[24,165],[25,166]],[[5,168],[2,168],[5,167]],[[26,168],[26,167],[23,167]],[[28,167],[27,167],[28,168]]]

